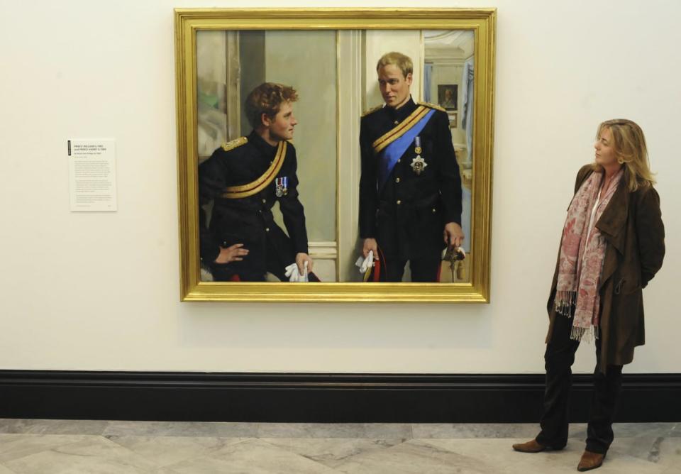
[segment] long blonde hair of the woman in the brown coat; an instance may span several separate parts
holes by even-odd
[[[639,187],[655,184],[653,172],[650,172],[648,148],[643,130],[635,122],[626,118],[607,120],[598,126],[596,139],[608,129],[612,134],[613,148],[617,155],[617,162],[624,165],[624,182],[629,191],[634,192]],[[594,163],[594,170],[602,171],[601,165]]]

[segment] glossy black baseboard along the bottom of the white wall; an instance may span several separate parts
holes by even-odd
[[[543,375],[0,370],[0,418],[536,423]],[[592,376],[570,416],[587,419]],[[681,421],[681,373],[626,374],[616,421]]]

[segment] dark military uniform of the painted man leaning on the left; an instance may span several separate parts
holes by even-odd
[[[227,187],[258,180],[277,153],[277,147],[265,142],[255,131],[247,138],[247,143],[234,148],[229,144],[218,148],[199,165],[201,260],[211,268],[216,281],[232,280],[235,275],[241,281],[264,281],[266,272],[286,281],[284,268],[294,263],[297,253],[308,253],[305,214],[298,199],[296,150],[287,143],[286,157],[277,173],[277,178],[287,178],[285,194],[277,196],[277,180],[272,180],[252,196],[227,199],[222,196]],[[211,201],[214,206],[210,224],[206,226],[203,206]],[[290,238],[275,224],[272,215],[275,202],[279,202]],[[243,248],[249,250],[243,260],[214,263],[221,246],[235,243],[243,243]]]

